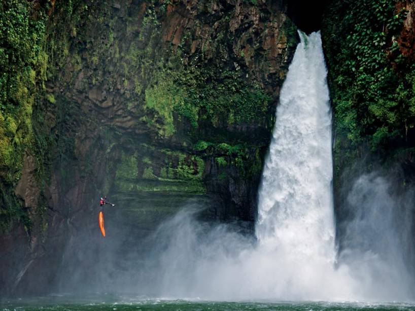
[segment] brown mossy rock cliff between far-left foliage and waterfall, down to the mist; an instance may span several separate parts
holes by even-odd
[[[33,112],[52,143],[43,157],[26,152],[7,196],[31,226],[15,221],[0,238],[2,294],[56,291],[70,274],[96,285],[108,258],[120,254],[122,267],[144,252],[143,238],[185,205],[251,230],[297,42],[285,12],[265,0],[50,3],[49,44],[78,15],[63,48],[48,51],[53,71]],[[117,203],[105,240],[104,194]]]

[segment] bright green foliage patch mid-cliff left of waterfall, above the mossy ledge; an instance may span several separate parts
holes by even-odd
[[[184,66],[172,58],[152,80],[145,91],[146,107],[156,112],[151,125],[158,126],[161,137],[176,132],[175,114],[193,128],[203,120],[211,121],[214,127],[264,124],[268,120],[272,98],[259,86],[250,85],[236,69],[222,70],[210,64]]]

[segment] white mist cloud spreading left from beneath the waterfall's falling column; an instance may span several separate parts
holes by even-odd
[[[184,209],[152,237],[144,270],[161,297],[209,300],[342,300],[347,269],[321,258],[268,248],[227,225],[199,222]],[[343,275],[344,274],[344,275]],[[142,277],[144,274],[141,274]],[[348,280],[353,282],[353,280]],[[151,282],[145,281],[149,286]],[[350,286],[349,286],[350,287]],[[143,286],[140,286],[143,288]],[[347,293],[352,299],[353,293]]]

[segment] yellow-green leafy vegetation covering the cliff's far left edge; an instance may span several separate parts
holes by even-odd
[[[63,39],[52,40],[59,34],[48,35],[48,15],[53,9],[54,1],[11,0],[3,1],[0,10],[0,230],[9,229],[14,219],[30,228],[27,210],[13,189],[21,177],[24,156],[32,155],[37,160],[35,169],[41,191],[48,175],[47,162],[54,141],[45,130],[43,106],[45,100],[53,105],[55,99],[45,82],[58,67],[51,65],[54,55],[67,44]],[[65,16],[66,23],[52,31],[66,33],[66,27],[79,18],[80,8],[67,2],[57,5],[57,11],[57,15]],[[40,206],[42,198],[39,200],[30,204]]]

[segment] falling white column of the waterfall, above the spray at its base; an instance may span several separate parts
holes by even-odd
[[[320,33],[301,42],[281,90],[259,192],[264,246],[334,262],[331,111]]]

